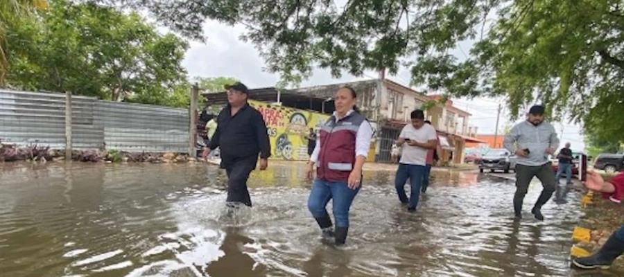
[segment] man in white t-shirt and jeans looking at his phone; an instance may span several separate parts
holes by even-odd
[[[408,211],[416,211],[420,197],[422,178],[426,171],[427,151],[435,149],[437,134],[433,126],[424,123],[424,112],[420,109],[412,111],[412,124],[406,125],[397,145],[404,146],[399,169],[395,178],[395,188],[402,204],[408,204]],[[410,179],[410,198],[405,193],[405,182]]]

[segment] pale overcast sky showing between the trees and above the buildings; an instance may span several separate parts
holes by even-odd
[[[248,85],[250,88],[273,87],[279,75],[268,73],[264,70],[265,64],[254,45],[243,42],[239,37],[245,32],[243,26],[227,26],[217,21],[207,21],[204,33],[207,37],[205,43],[190,42],[183,65],[189,71],[191,77],[234,77]],[[465,59],[471,43],[463,42],[453,52],[458,59]],[[315,69],[313,75],[302,83],[303,87],[331,84],[336,82],[349,82],[354,80],[366,80],[377,78],[378,73],[367,72],[363,76],[344,74],[336,79],[329,71]],[[390,80],[409,86],[410,73],[407,69],[401,69],[395,76],[387,76]],[[429,93],[441,93],[442,91],[429,91]],[[472,114],[469,125],[478,127],[479,134],[494,134],[496,128],[496,111],[499,103],[503,105],[499,132],[505,125],[512,125],[508,119],[505,103],[494,98],[453,99],[454,104]],[[582,129],[578,125],[570,123],[553,123],[557,134],[560,135],[562,144],[572,143],[573,150],[583,150]]]

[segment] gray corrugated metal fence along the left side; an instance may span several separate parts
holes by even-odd
[[[188,152],[189,111],[72,96],[74,149]],[[65,147],[65,96],[0,89],[0,141]]]

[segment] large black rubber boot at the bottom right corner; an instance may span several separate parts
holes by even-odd
[[[613,261],[624,252],[624,242],[616,238],[615,233],[605,242],[598,253],[586,258],[572,260],[575,267],[581,269],[608,269]]]

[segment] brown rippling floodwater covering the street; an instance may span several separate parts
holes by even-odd
[[[320,238],[302,163],[254,172],[254,207],[227,211],[225,173],[204,164],[5,164],[1,276],[573,276],[578,193],[545,222],[512,220],[514,184],[435,172],[417,213],[393,172],[365,172],[345,247]],[[328,206],[331,211],[331,204]],[[610,271],[600,274],[617,276]]]

